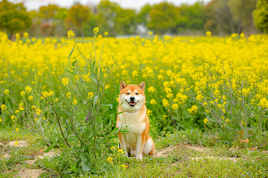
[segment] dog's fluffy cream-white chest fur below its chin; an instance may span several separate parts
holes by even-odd
[[[120,121],[118,122],[118,128],[121,130],[125,129],[127,126],[127,131],[129,133],[124,133],[126,135],[126,140],[130,144],[136,143],[136,135],[143,133],[146,125],[142,121],[144,120],[146,113],[140,115],[139,111],[136,112],[124,112],[119,115]]]

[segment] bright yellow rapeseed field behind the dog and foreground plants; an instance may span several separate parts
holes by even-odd
[[[98,32],[98,29],[94,30]],[[212,105],[222,113],[216,118],[218,123],[226,127],[234,120],[230,118],[234,115],[226,114],[233,112],[226,107],[234,102],[231,96],[222,92],[228,87],[238,96],[244,96],[237,99],[250,99],[255,108],[259,107],[267,114],[268,37],[252,35],[246,38],[243,33],[226,38],[213,37],[209,32],[206,35],[174,38],[155,35],[146,39],[139,36],[129,39],[103,38],[98,35],[93,45],[97,57],[101,56],[100,65],[113,60],[118,65],[106,86],[109,90],[105,100],[116,107],[120,81],[127,84],[145,81],[147,114],[152,125],[159,130],[172,130],[171,118],[181,129],[202,128],[211,121],[207,115],[213,115],[210,112]],[[72,38],[74,33],[68,32],[68,36]],[[42,41],[27,38],[28,34],[23,37],[26,38],[20,39],[16,35],[15,42],[7,40],[5,35],[0,39],[0,123],[5,126],[14,125],[16,118],[22,114],[23,98],[34,100],[32,89],[38,87],[43,95],[60,102],[59,81],[63,86],[73,87],[73,76],[69,74],[72,66],[68,65],[67,57],[74,43],[66,38],[46,38]],[[84,56],[93,55],[92,38],[77,41]],[[94,81],[86,62],[75,50],[71,60],[79,63],[85,86],[90,91],[88,98],[94,97]],[[53,75],[55,69],[59,78]],[[253,93],[254,97],[251,97]],[[21,105],[16,106],[8,95],[20,101]],[[69,90],[67,98],[73,105],[82,102],[76,90]],[[42,116],[46,113],[45,108],[41,105],[32,107],[36,107],[37,115],[45,117]],[[239,107],[246,106],[242,104]],[[243,118],[240,120],[246,122]]]

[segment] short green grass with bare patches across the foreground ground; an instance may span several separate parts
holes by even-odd
[[[223,143],[217,134],[199,130],[176,131],[174,134],[162,133],[155,139],[158,153],[166,152],[165,157],[153,158],[146,156],[142,161],[134,157],[119,157],[110,155],[114,162],[97,158],[95,170],[88,175],[78,173],[84,178],[260,178],[268,176],[268,154],[258,149],[245,149]],[[66,172],[61,168],[61,159],[45,157],[38,159],[33,165],[25,161],[27,156],[42,155],[41,149],[46,149],[45,142],[38,136],[27,131],[2,130],[1,142],[10,140],[28,140],[27,147],[0,146],[0,178],[15,177],[24,169],[47,169],[41,178],[53,178]],[[167,147],[168,146],[168,147]],[[9,152],[8,158],[3,153]],[[61,147],[57,148],[61,152]],[[64,153],[62,154],[64,156]],[[68,161],[68,158],[66,158]],[[235,160],[235,161],[233,161]],[[69,160],[71,161],[71,160]],[[123,169],[122,165],[127,165]],[[120,170],[119,170],[120,169]],[[3,174],[4,173],[4,174]],[[75,177],[63,174],[63,177]]]

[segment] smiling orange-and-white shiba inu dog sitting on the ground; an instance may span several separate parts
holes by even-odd
[[[118,102],[123,104],[118,108],[123,112],[117,116],[116,127],[125,129],[129,133],[119,133],[119,142],[121,149],[125,154],[132,154],[138,159],[142,159],[143,154],[155,154],[155,145],[149,135],[150,123],[146,114],[145,106],[145,82],[139,85],[127,85],[120,83],[120,94]]]

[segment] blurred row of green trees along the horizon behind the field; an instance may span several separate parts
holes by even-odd
[[[246,35],[268,33],[268,0],[211,0],[193,5],[161,2],[140,10],[122,8],[102,0],[97,6],[73,4],[69,9],[55,4],[26,11],[22,3],[0,2],[0,29],[9,36],[27,31],[31,36],[63,36],[72,29],[77,36],[92,36],[92,29],[110,36],[144,34]],[[107,33],[106,33],[107,34]]]

